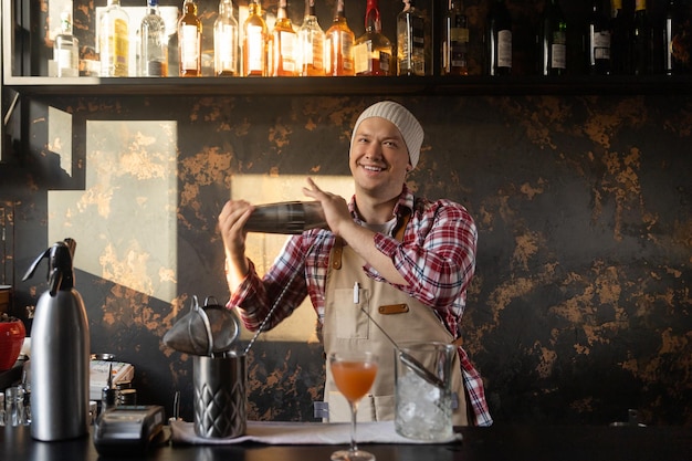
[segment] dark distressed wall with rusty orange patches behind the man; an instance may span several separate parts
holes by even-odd
[[[31,261],[78,234],[93,350],[135,364],[140,401],[170,408],[181,390],[191,419],[191,359],[160,339],[191,295],[228,297],[220,208],[348,175],[352,124],[377,99],[27,101],[25,136],[0,164],[14,312],[45,290],[41,271],[21,282]],[[649,423],[692,423],[692,98],[395,99],[426,128],[412,188],[479,226],[464,340],[496,421],[607,423],[638,408]],[[263,264],[274,248],[256,243]],[[310,307],[294,315],[251,350],[251,418],[313,420],[322,348]]]

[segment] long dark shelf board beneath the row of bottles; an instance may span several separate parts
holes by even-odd
[[[41,77],[7,76],[24,95],[689,95],[692,75],[505,77]]]

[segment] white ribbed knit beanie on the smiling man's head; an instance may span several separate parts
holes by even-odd
[[[358,129],[360,122],[370,117],[385,118],[399,128],[399,133],[401,133],[401,137],[403,138],[406,147],[409,151],[411,166],[416,168],[418,159],[420,158],[420,146],[423,144],[424,134],[422,126],[420,126],[420,123],[416,119],[413,114],[411,114],[401,104],[397,104],[392,101],[375,103],[370,107],[363,111],[363,114],[360,114],[356,121],[353,134],[350,135],[352,145],[354,143],[354,138],[356,137],[356,130]]]

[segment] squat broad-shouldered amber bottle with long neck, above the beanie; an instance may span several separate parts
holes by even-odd
[[[382,34],[377,0],[367,0],[365,33],[354,46],[356,75],[395,75],[391,42]]]

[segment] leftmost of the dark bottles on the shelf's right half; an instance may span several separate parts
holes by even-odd
[[[469,19],[461,0],[449,0],[442,25],[442,75],[469,75]]]

